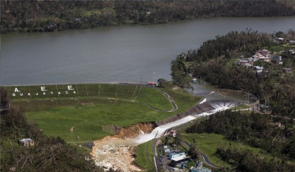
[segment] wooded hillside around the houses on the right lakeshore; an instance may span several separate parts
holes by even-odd
[[[278,34],[284,41],[277,41]],[[289,53],[295,47],[286,40],[295,40],[294,30],[266,34],[247,29],[216,36],[198,50],[176,57],[172,62],[172,83],[189,87],[191,74],[220,88],[250,92],[260,97],[262,103],[269,102],[274,114],[295,117],[295,75],[283,70],[295,66],[295,54]],[[257,60],[253,66],[264,67],[262,76],[258,76],[253,67],[240,65],[239,60],[240,56],[248,58],[261,49],[280,56],[283,64],[273,59],[270,62]]]

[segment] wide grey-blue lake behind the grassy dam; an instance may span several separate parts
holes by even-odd
[[[232,30],[295,29],[295,17],[207,18],[1,35],[0,85],[170,79],[171,61]]]

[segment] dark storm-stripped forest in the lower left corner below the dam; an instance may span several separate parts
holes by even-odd
[[[4,92],[1,88],[1,105],[7,103]],[[44,136],[24,114],[22,109],[0,113],[1,172],[104,172],[61,138]],[[24,138],[33,139],[34,145],[19,144],[18,140]]]

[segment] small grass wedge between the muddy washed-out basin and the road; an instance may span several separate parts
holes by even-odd
[[[137,149],[137,158],[135,159],[135,163],[145,168],[147,172],[155,172],[155,164],[152,153],[152,143],[154,139],[140,144]]]

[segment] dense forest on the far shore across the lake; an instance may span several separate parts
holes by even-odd
[[[291,0],[1,0],[0,32],[160,24],[198,17],[295,15]]]

